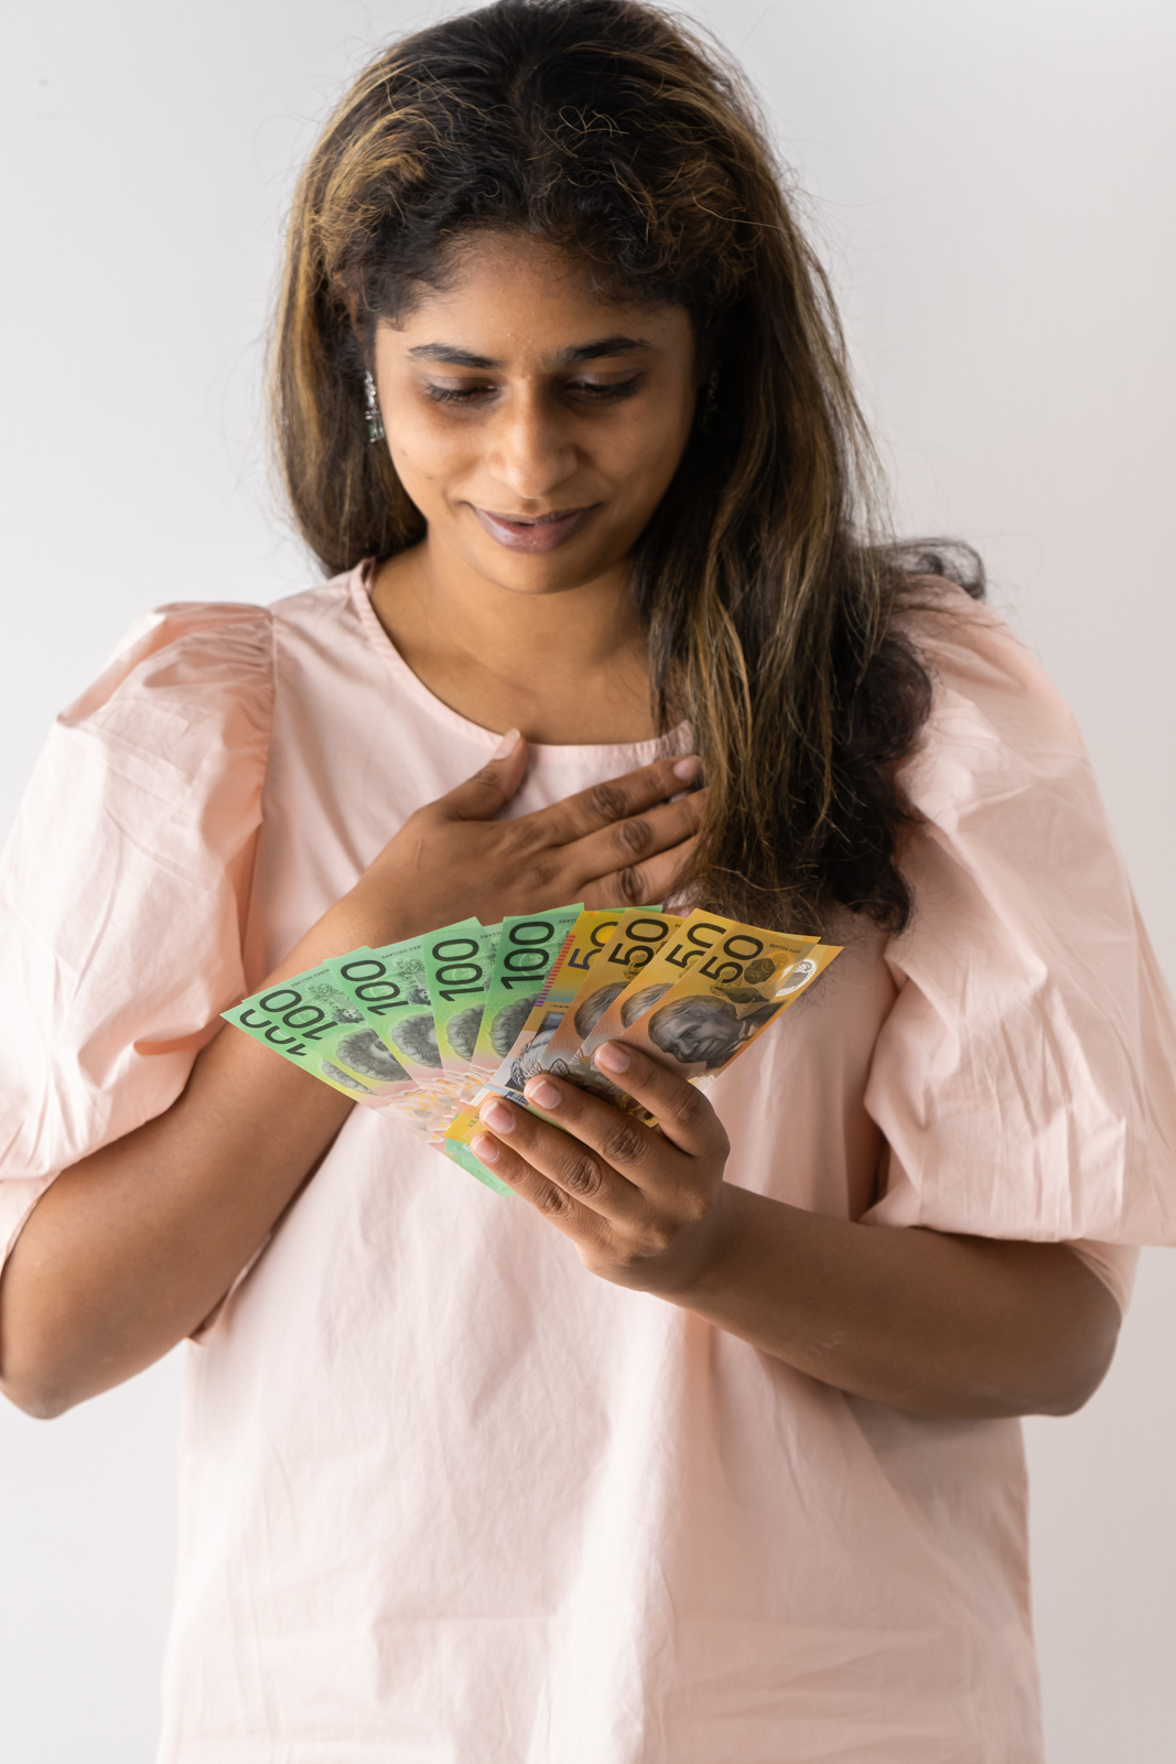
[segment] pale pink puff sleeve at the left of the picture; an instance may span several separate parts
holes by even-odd
[[[266,609],[162,607],[62,713],[0,857],[0,1258],[162,1113],[242,995],[273,713]]]

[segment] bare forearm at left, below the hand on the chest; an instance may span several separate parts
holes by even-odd
[[[143,1371],[224,1297],[351,1104],[226,1028],[183,1095],[65,1170],[0,1279],[0,1388],[56,1415]]]

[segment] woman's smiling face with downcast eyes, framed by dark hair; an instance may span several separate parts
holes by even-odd
[[[550,594],[633,549],[689,439],[698,363],[682,307],[601,302],[568,250],[490,233],[444,291],[381,319],[376,383],[430,550]]]

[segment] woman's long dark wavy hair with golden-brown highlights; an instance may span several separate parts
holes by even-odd
[[[363,370],[377,319],[471,228],[573,247],[601,291],[686,307],[716,351],[712,420],[633,557],[658,725],[686,716],[705,762],[689,893],[901,930],[896,766],[931,684],[892,614],[919,575],[975,596],[982,577],[878,543],[829,282],[742,74],[638,0],[499,0],[356,79],[301,176],[273,351],[286,485],[330,572],[423,533],[367,445]]]

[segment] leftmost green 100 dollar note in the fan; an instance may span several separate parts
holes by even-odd
[[[416,1090],[400,1060],[326,967],[280,981],[222,1014],[303,1073],[368,1108],[386,1108]]]

